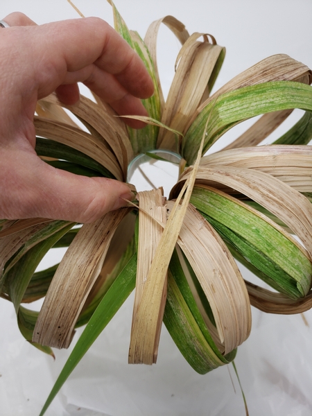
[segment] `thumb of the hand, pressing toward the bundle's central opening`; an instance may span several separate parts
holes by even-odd
[[[1,218],[42,217],[91,223],[124,206],[124,199],[133,199],[123,182],[73,175],[49,166],[33,153],[20,153],[19,157],[7,155],[5,166],[1,164]]]

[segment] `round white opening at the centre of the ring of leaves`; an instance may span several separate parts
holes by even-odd
[[[164,196],[168,198],[179,177],[181,159],[169,150],[141,153],[128,166],[127,182],[134,184],[138,192],[163,187]]]

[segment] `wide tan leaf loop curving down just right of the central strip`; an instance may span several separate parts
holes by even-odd
[[[171,209],[173,202],[167,206]],[[207,296],[227,354],[248,338],[251,329],[250,302],[241,272],[220,236],[192,205],[177,243]]]

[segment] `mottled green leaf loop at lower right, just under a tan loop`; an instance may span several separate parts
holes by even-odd
[[[311,262],[278,229],[243,205],[212,190],[195,187],[191,203],[205,214],[225,241],[281,286],[281,291],[290,297],[302,297],[309,292]]]

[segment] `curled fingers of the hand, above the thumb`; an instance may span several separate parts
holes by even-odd
[[[105,21],[92,17],[35,26],[21,13],[5,19],[11,26],[22,26],[3,35],[12,34],[5,43],[19,51],[28,79],[33,72],[37,98],[57,89],[61,101],[76,103],[78,87],[69,84],[82,82],[119,114],[147,115],[139,98],[153,94],[153,81],[139,55]],[[24,83],[28,95],[26,84],[31,82]]]

